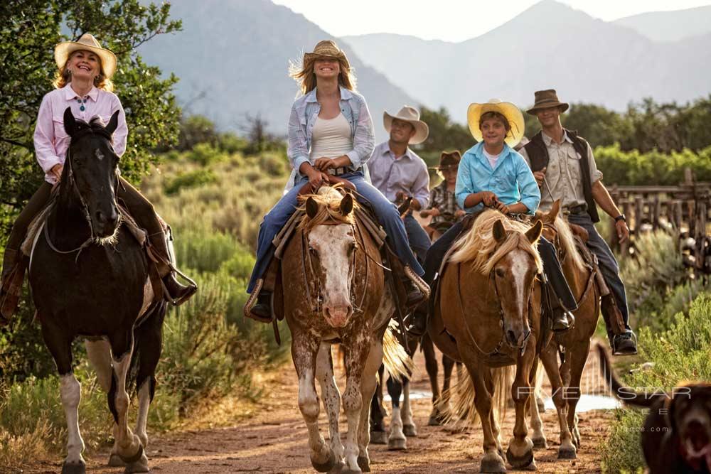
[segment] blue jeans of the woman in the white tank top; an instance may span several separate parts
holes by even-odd
[[[410,265],[410,268],[412,268],[415,273],[422,276],[424,270],[422,266],[419,265],[419,262],[417,262],[415,255],[412,254],[412,250],[410,250],[405,225],[402,223],[402,219],[400,219],[395,205],[390,203],[377,188],[374,188],[368,181],[365,181],[363,173],[360,171],[347,173],[340,177],[351,181],[351,183],[355,185],[355,188],[358,189],[357,199],[359,203],[370,203],[370,207],[373,208],[375,216],[378,217],[380,224],[385,227],[387,239],[390,241],[393,250],[395,250],[395,254],[400,258],[402,264]],[[274,257],[275,249],[274,245],[272,245],[272,240],[279,233],[279,230],[282,230],[282,227],[287,223],[289,217],[292,217],[292,214],[296,211],[299,189],[308,181],[309,178],[301,178],[301,181],[296,183],[294,188],[289,190],[289,193],[283,195],[272,210],[264,216],[264,221],[262,221],[262,225],[260,226],[260,235],[257,238],[257,262],[255,262],[255,268],[252,270],[252,277],[250,278],[250,284],[247,286],[247,293],[252,293],[255,284],[257,284],[257,280],[262,278],[267,271],[269,262],[271,262]]]

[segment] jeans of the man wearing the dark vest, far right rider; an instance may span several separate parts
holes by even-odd
[[[590,236],[587,240],[587,247],[592,250],[592,253],[597,255],[597,262],[602,271],[602,276],[615,297],[617,308],[619,308],[620,313],[622,313],[622,318],[624,319],[625,328],[631,330],[629,327],[629,310],[627,309],[627,296],[624,291],[624,283],[622,283],[620,279],[619,264],[614,254],[612,254],[609,245],[597,233],[595,225],[587,212],[568,215],[568,222],[579,225],[587,230]]]

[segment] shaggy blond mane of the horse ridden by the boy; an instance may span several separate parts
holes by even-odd
[[[493,225],[497,220],[501,220],[503,228],[508,232],[508,237],[503,244],[498,244],[493,237]],[[533,257],[540,273],[543,271],[543,264],[538,254],[538,242],[535,244],[528,242],[525,232],[529,229],[529,225],[510,220],[498,210],[485,210],[476,217],[471,230],[454,242],[449,262],[473,262],[474,271],[488,275],[504,255],[514,249],[521,249]]]

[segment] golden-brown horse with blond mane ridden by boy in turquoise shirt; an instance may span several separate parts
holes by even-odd
[[[535,243],[541,230],[540,222],[529,227],[497,210],[481,212],[474,227],[454,242],[428,326],[437,347],[464,362],[471,376],[484,436],[483,473],[506,472],[492,404],[501,370],[492,367],[508,365],[516,369],[516,422],[506,458],[514,468],[535,468],[525,414],[540,337],[540,285],[535,283],[542,263]]]

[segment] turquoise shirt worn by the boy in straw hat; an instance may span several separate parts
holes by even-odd
[[[528,214],[533,215],[540,203],[540,190],[523,156],[504,144],[496,166],[492,169],[484,156],[483,147],[483,141],[472,146],[459,162],[454,189],[456,202],[466,212],[478,211],[483,208],[483,203],[464,208],[466,196],[491,191],[506,205],[523,203],[528,208]]]

